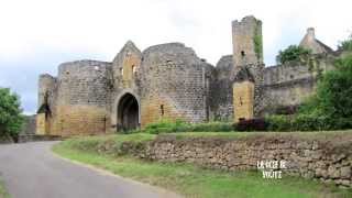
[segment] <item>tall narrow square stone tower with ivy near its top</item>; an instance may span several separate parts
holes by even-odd
[[[232,22],[233,44],[233,111],[234,121],[251,119],[260,109],[261,85],[263,82],[262,22],[245,16]],[[250,78],[243,79],[244,76]],[[241,80],[239,80],[241,79]]]

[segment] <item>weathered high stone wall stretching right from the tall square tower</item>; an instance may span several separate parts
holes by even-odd
[[[261,116],[272,113],[275,107],[297,107],[315,92],[318,74],[333,69],[336,57],[320,54],[312,58],[312,66],[295,62],[264,69]]]

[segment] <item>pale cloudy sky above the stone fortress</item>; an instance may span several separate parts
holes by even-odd
[[[231,54],[231,21],[263,21],[264,58],[298,44],[308,26],[336,48],[352,31],[351,0],[1,0],[0,87],[36,110],[37,76],[75,59],[112,61],[128,40],[141,50],[183,42],[216,64]]]

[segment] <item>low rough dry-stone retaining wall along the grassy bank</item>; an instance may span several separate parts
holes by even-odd
[[[348,134],[250,135],[237,140],[162,135],[144,146],[125,144],[123,152],[152,161],[186,162],[226,170],[256,169],[260,161],[286,161],[283,177],[294,175],[352,187],[352,143],[348,140]]]

